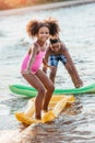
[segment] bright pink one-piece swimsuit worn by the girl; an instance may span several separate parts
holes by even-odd
[[[39,69],[39,67],[40,67],[40,65],[41,65],[41,63],[43,63],[43,58],[44,58],[45,54],[46,54],[45,51],[40,51],[40,52],[35,56],[35,61],[34,61],[34,63],[33,63],[33,65],[32,65],[32,67],[31,67],[32,72],[33,72],[34,74]],[[22,70],[22,72],[26,69],[27,64],[28,64],[28,62],[29,62],[29,58],[31,58],[31,55],[29,55],[29,54],[27,54],[27,55],[24,57],[24,61],[23,61],[22,66],[21,66],[21,70]]]

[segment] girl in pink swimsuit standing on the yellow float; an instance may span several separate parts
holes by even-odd
[[[55,28],[58,26],[55,21],[32,20],[26,26],[28,35],[37,40],[24,57],[21,73],[27,82],[38,91],[35,99],[35,119],[37,120],[41,119],[41,109],[45,111],[48,110],[48,105],[55,90],[51,80],[39,69],[48,47],[47,40],[50,35],[57,33],[54,25],[56,25]],[[51,30],[54,30],[54,32]]]

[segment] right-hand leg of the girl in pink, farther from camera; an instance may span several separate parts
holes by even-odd
[[[51,99],[52,92],[55,90],[55,86],[54,86],[52,81],[46,76],[46,74],[43,70],[38,70],[36,73],[36,75],[41,80],[45,88],[47,89],[45,98],[44,98],[43,109],[48,110],[48,105]]]

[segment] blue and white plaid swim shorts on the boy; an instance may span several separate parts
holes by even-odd
[[[49,65],[57,67],[59,61],[62,62],[63,65],[66,65],[66,63],[67,63],[67,57],[63,56],[63,55],[50,55],[50,57],[49,57]]]

